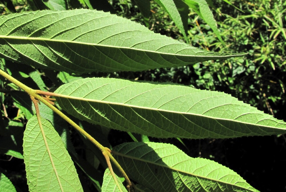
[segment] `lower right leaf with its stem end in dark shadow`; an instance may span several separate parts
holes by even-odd
[[[231,169],[171,144],[124,143],[112,153],[128,177],[152,191],[257,191]]]

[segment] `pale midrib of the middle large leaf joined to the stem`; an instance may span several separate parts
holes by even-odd
[[[102,103],[102,104],[108,104],[108,105],[119,105],[119,106],[130,107],[130,108],[146,109],[146,110],[169,112],[169,113],[176,113],[176,114],[185,114],[185,115],[194,115],[194,116],[211,118],[211,119],[214,119],[214,120],[225,120],[225,121],[232,121],[232,122],[243,123],[243,124],[248,124],[248,125],[261,126],[261,127],[267,127],[267,128],[275,128],[275,129],[279,129],[279,130],[285,130],[283,128],[277,128],[277,127],[273,127],[273,126],[264,126],[264,125],[259,125],[259,124],[253,124],[253,123],[248,123],[248,122],[232,120],[232,119],[211,117],[211,116],[206,116],[206,115],[196,114],[196,113],[178,112],[178,111],[171,111],[171,110],[165,110],[165,109],[158,109],[158,108],[130,105],[130,104],[125,104],[125,103],[117,103],[117,102],[102,101],[102,100],[96,100],[96,99],[80,98],[80,97],[68,96],[68,95],[57,94],[57,93],[53,93],[53,96],[67,98],[67,99],[74,99],[74,100],[82,100],[82,101],[86,101],[86,102],[96,102],[96,103]],[[280,124],[278,122],[276,122],[276,123]]]

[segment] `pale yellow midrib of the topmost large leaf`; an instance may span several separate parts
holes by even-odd
[[[158,51],[151,51],[151,50],[145,50],[145,49],[136,49],[131,47],[119,47],[119,46],[112,46],[112,45],[101,45],[96,43],[85,43],[85,42],[79,42],[79,41],[68,41],[68,40],[61,40],[61,39],[47,39],[47,38],[41,38],[41,37],[22,37],[22,36],[5,36],[0,35],[0,39],[17,39],[17,40],[29,40],[29,41],[51,41],[51,42],[61,42],[61,43],[75,43],[80,45],[92,45],[92,46],[98,46],[98,47],[110,47],[110,48],[118,48],[118,49],[132,49],[136,51],[144,51],[144,52],[152,52],[156,54],[165,54],[165,55],[174,55],[174,56],[185,56],[185,57],[234,57],[234,56],[243,56],[245,53],[238,53],[238,54],[232,54],[232,55],[225,55],[225,56],[204,56],[204,55],[182,55],[182,54],[173,54],[173,53],[164,53],[164,52],[158,52]],[[151,41],[151,40],[150,40]],[[191,45],[188,45],[191,46]],[[194,49],[197,49],[193,47]],[[184,49],[182,49],[184,50]]]

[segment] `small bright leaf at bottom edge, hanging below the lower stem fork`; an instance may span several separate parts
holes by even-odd
[[[121,183],[120,178],[117,175],[115,176],[116,176],[116,179],[118,181],[118,184],[121,190],[116,185],[109,169],[106,169],[104,172],[104,176],[103,176],[103,183],[102,183],[102,188],[101,188],[102,191],[104,192],[122,192],[122,191],[127,192],[127,190]]]

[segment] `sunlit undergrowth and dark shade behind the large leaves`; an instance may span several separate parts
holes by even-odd
[[[31,2],[32,0],[2,0],[0,12],[9,14],[37,9],[33,7],[37,5]],[[91,8],[84,4],[84,1],[82,2],[83,4],[79,4],[78,1],[70,0],[68,8]],[[225,45],[218,40],[210,27],[192,12],[188,18],[189,43],[194,47],[216,52],[246,52],[248,53],[246,56],[179,68],[113,74],[93,73],[87,76],[175,82],[200,89],[218,90],[229,93],[265,113],[272,114],[277,119],[286,121],[286,2],[282,0],[236,0],[231,1],[232,5],[229,5],[225,1],[217,0],[208,1],[208,3],[212,7],[211,10],[215,15]],[[109,11],[112,13],[144,24],[144,18],[133,1],[113,0],[110,1],[110,5]],[[151,5],[149,29],[155,33],[184,41],[184,37],[164,9],[155,2]],[[47,8],[44,5],[39,6],[40,9]],[[94,8],[100,9],[100,7]],[[4,66],[11,74],[14,74],[14,77],[18,74],[18,80],[32,88],[37,88],[35,81],[42,82],[42,90],[53,90],[64,81],[77,78],[77,76],[69,76],[69,79],[64,79],[61,76],[62,73],[53,74],[47,70],[39,70],[40,76],[31,76],[28,74],[34,70],[33,68],[2,60],[0,67]],[[3,87],[3,82],[1,83]],[[12,85],[10,86],[13,89]],[[10,119],[25,125],[26,120],[23,112],[15,103],[15,98],[9,97],[3,100],[3,93],[1,94],[1,104],[3,104],[1,124],[6,124]],[[77,133],[72,130],[70,132],[72,141],[77,146],[77,153],[82,154],[83,158],[90,155],[83,150],[85,144],[77,139]],[[121,140],[113,140],[112,136],[115,134],[122,135]],[[108,137],[112,146],[132,141],[128,134],[115,130],[111,130]],[[286,191],[286,139],[284,135],[228,140],[182,140],[182,142],[175,139],[149,139],[155,142],[172,143],[191,157],[203,157],[217,161],[239,173],[260,191]],[[97,163],[96,158],[90,163]],[[263,166],[261,167],[260,164]],[[10,159],[8,155],[1,155],[0,171],[9,177],[19,191],[28,191],[25,165],[22,159]],[[85,184],[86,188],[93,190],[90,183]]]

